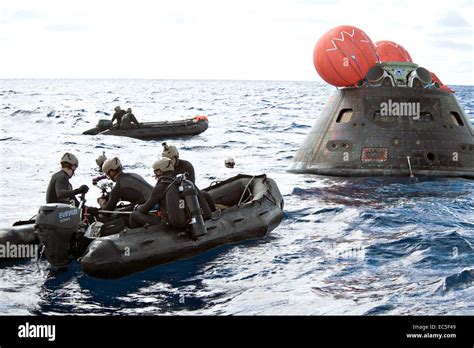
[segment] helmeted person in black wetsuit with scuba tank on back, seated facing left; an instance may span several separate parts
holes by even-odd
[[[135,207],[130,215],[130,226],[132,228],[144,225],[158,225],[167,223],[169,218],[168,208],[180,210],[179,193],[174,185],[173,162],[166,157],[155,161],[152,165],[155,173],[156,186],[153,188],[147,201]],[[157,213],[150,214],[151,210],[157,209]],[[172,214],[174,215],[174,214]]]

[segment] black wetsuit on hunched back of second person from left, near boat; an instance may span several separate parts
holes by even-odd
[[[120,200],[128,201],[133,205],[143,204],[152,190],[153,186],[138,174],[119,174],[117,182],[110,192],[109,200],[102,209],[114,210]]]

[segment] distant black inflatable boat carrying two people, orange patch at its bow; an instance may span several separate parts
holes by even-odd
[[[197,135],[209,126],[206,116],[196,116],[181,121],[143,122],[139,127],[117,129],[110,120],[100,120],[97,126],[85,131],[87,135],[116,135],[141,140],[161,140],[186,135]]]

